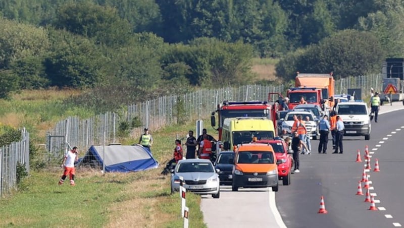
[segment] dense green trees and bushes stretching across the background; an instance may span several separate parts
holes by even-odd
[[[400,57],[402,3],[0,0],[0,97],[57,86],[125,91],[119,103],[240,85],[254,79],[254,57],[280,59],[285,80],[296,71],[363,75]]]

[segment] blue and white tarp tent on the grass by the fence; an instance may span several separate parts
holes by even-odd
[[[76,166],[102,168],[104,162],[106,172],[137,172],[159,166],[150,150],[141,145],[91,146]]]

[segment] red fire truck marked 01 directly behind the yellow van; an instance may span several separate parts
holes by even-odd
[[[218,104],[218,108],[212,112],[211,125],[219,131],[221,140],[222,126],[226,118],[232,117],[266,117],[274,122],[276,129],[276,110],[267,101],[223,101]],[[218,126],[216,127],[215,114],[218,113]]]

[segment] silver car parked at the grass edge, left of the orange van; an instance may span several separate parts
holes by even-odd
[[[220,197],[219,175],[210,160],[179,160],[171,174],[171,192],[179,191],[180,177],[184,180],[186,191]]]

